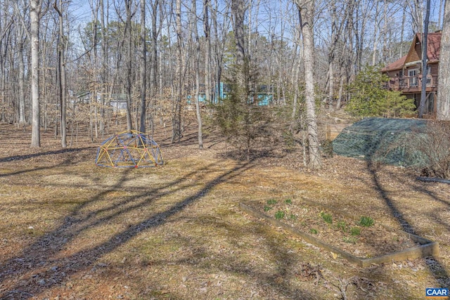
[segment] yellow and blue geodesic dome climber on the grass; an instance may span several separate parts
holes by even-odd
[[[96,165],[101,167],[143,168],[163,164],[160,146],[139,131],[124,131],[101,143]]]

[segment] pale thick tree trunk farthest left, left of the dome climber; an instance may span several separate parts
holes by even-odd
[[[41,147],[39,110],[39,21],[41,0],[30,0],[31,19],[31,91],[32,91],[32,133],[31,147]]]

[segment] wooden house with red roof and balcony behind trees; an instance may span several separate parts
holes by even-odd
[[[422,39],[422,34],[416,34],[406,56],[381,70],[389,77],[387,89],[401,91],[407,98],[413,98],[416,107],[420,104],[422,91]],[[429,33],[427,44],[428,74],[424,117],[435,118],[441,32]]]

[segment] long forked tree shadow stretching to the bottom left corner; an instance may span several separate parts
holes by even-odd
[[[219,183],[229,181],[252,167],[252,162],[247,162],[238,164],[231,170],[221,171],[221,174],[205,182],[200,190],[191,193],[192,195],[186,195],[164,211],[155,212],[146,216],[143,221],[129,224],[127,228],[92,247],[65,254],[66,245],[82,237],[86,230],[108,223],[117,216],[124,216],[130,211],[149,207],[160,197],[168,195],[179,197],[175,193],[182,187],[174,188],[174,186],[190,185],[191,183],[188,180],[190,176],[202,171],[211,171],[215,164],[195,169],[160,186],[146,188],[137,195],[123,197],[107,205],[100,205],[100,202],[108,193],[127,189],[126,183],[131,179],[134,170],[122,170],[121,177],[117,179],[115,184],[110,185],[109,188],[102,190],[91,199],[78,204],[72,213],[60,219],[58,228],[38,237],[22,252],[0,263],[0,286],[2,286],[0,299],[29,299],[49,291],[53,287],[58,287],[71,275],[94,266],[105,254],[114,252],[115,249],[129,242],[132,238],[150,228],[156,228],[167,223],[169,217],[183,211],[188,205],[202,200]],[[96,208],[89,211],[91,207]],[[50,267],[51,270],[49,270]],[[47,279],[49,272],[53,272],[51,280]],[[13,286],[8,286],[6,289],[8,282],[18,278],[20,278],[20,282],[16,281]],[[299,293],[295,292],[295,294]]]

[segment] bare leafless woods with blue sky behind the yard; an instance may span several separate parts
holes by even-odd
[[[264,105],[284,107],[291,131],[304,126],[309,164],[319,167],[316,103],[340,109],[362,67],[403,56],[424,18],[430,32],[440,30],[448,22],[444,1],[428,4],[2,1],[0,121],[32,124],[32,147],[40,145],[40,129],[54,130],[65,148],[66,130],[72,138],[79,128],[93,140],[103,136],[117,122],[112,103],[123,102],[128,130],[153,133],[155,122],[171,124],[176,143],[194,110],[202,148],[202,107],[218,101],[221,83],[240,86],[235,97],[252,106],[258,97],[246,98],[264,86],[271,96]]]

